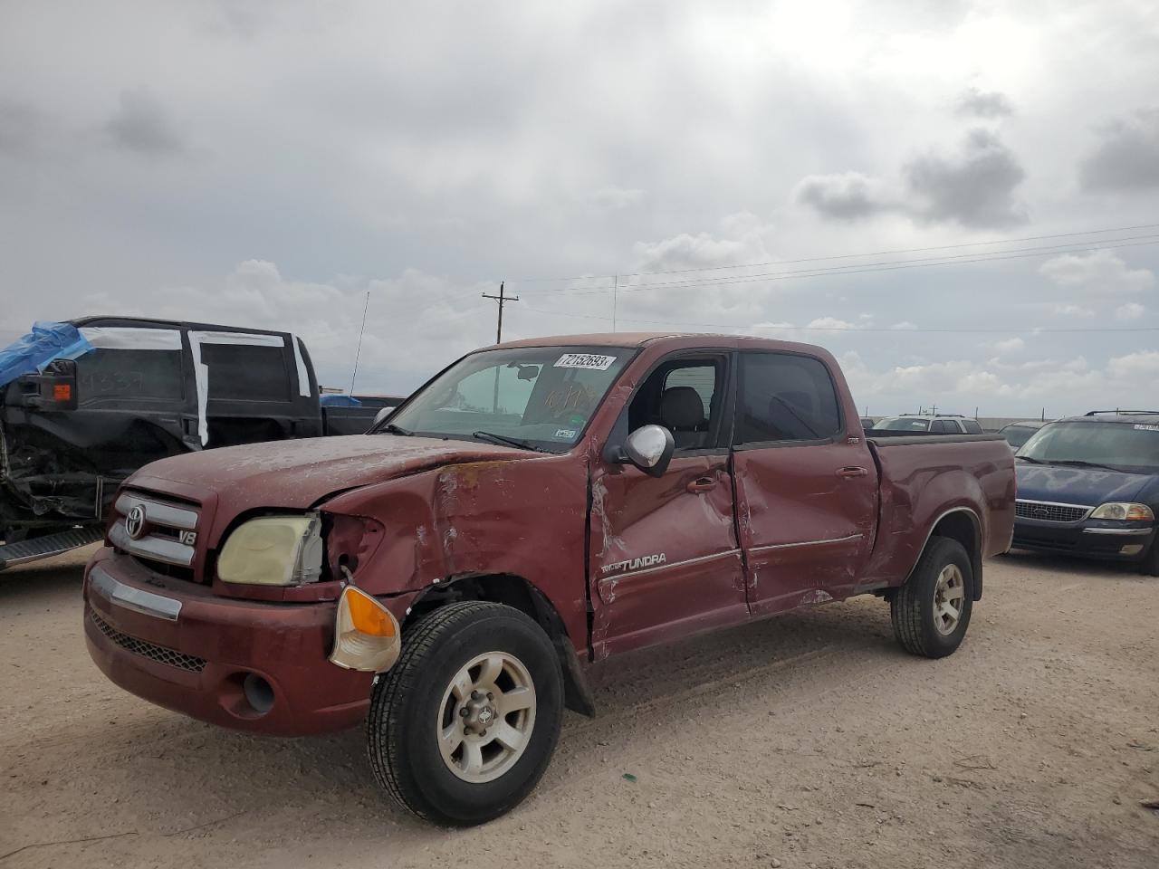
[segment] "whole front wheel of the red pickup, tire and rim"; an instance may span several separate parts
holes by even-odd
[[[562,717],[563,677],[544,629],[501,604],[450,604],[408,630],[374,686],[371,766],[414,815],[482,824],[532,791]]]

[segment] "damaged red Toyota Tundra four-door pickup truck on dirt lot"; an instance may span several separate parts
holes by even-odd
[[[1014,523],[994,436],[866,438],[826,351],[704,335],[479,350],[365,436],[163,459],[116,498],[85,633],[116,684],[204,721],[366,721],[437,823],[519,803],[590,663],[872,593],[962,642]]]

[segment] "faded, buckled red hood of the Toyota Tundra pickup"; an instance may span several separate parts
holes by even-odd
[[[471,440],[345,434],[247,444],[175,455],[146,465],[126,485],[169,491],[229,514],[253,507],[306,509],[327,496],[445,465],[513,461],[527,450]]]

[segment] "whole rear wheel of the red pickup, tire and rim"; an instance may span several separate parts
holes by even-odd
[[[956,540],[931,538],[890,600],[894,636],[911,655],[943,658],[962,644],[972,608],[970,556]]]

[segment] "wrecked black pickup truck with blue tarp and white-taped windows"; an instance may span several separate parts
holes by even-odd
[[[309,353],[289,333],[37,323],[0,350],[0,570],[100,540],[117,487],[155,459],[364,433],[388,401],[320,404]]]

